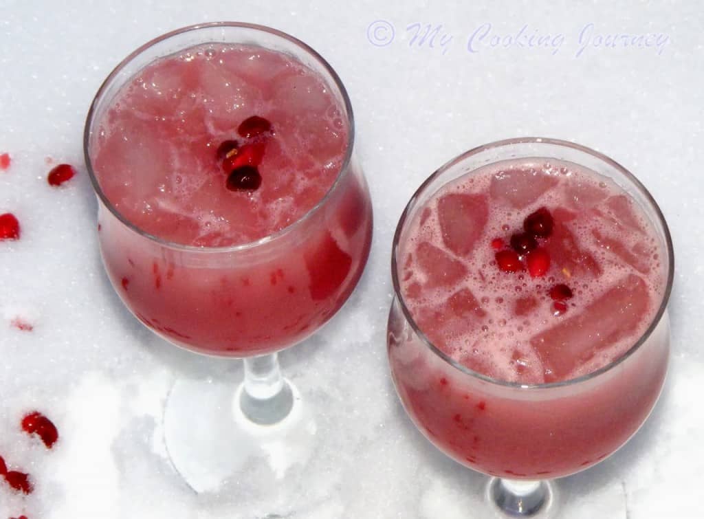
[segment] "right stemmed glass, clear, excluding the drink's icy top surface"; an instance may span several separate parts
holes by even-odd
[[[646,332],[620,358],[595,372],[544,384],[505,382],[477,373],[428,339],[400,288],[399,249],[410,223],[437,190],[496,161],[555,158],[614,180],[653,224],[663,265],[662,300]],[[388,327],[391,374],[406,412],[438,449],[490,475],[486,499],[499,515],[549,515],[551,480],[610,456],[648,417],[665,381],[670,349],[667,300],[672,241],[645,187],[615,161],[577,144],[522,138],[480,146],[450,161],[415,192],[396,228],[391,273],[395,298]],[[598,330],[595,330],[598,332]]]

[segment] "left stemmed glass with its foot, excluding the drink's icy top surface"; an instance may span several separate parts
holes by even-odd
[[[348,136],[327,194],[296,222],[256,242],[189,246],[150,235],[120,213],[96,174],[99,124],[115,94],[149,63],[203,43],[259,46],[312,69],[338,101]],[[237,391],[230,383],[178,380],[168,396],[165,444],[176,470],[196,491],[217,489],[263,444],[285,444],[300,432],[301,420],[294,418],[304,412],[301,398],[282,377],[277,351],[326,323],[367,261],[372,208],[353,142],[350,100],[330,65],[298,39],[258,25],[209,23],[158,37],[127,56],[95,96],[84,154],[99,201],[103,264],[115,291],[168,342],[198,354],[244,359]]]

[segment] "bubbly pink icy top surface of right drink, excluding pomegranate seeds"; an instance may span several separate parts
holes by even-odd
[[[551,256],[542,277],[496,266],[500,238],[547,207]],[[401,292],[417,325],[446,354],[484,375],[556,382],[625,353],[658,311],[661,245],[641,208],[606,177],[550,159],[502,161],[436,192],[402,237]],[[553,315],[555,284],[573,292]]]

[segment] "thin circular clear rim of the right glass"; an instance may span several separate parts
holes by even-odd
[[[501,380],[497,379],[494,377],[489,377],[487,375],[484,375],[482,373],[479,373],[477,371],[474,371],[470,368],[467,368],[467,366],[458,363],[458,361],[455,361],[451,356],[448,356],[444,351],[441,351],[437,346],[435,346],[432,341],[427,337],[425,332],[423,332],[420,329],[420,326],[417,325],[415,322],[415,319],[413,319],[413,315],[411,315],[410,310],[408,309],[408,306],[406,306],[406,302],[403,299],[403,294],[401,294],[401,284],[398,279],[398,268],[397,268],[397,257],[396,257],[396,251],[398,250],[398,244],[401,239],[401,231],[403,230],[403,227],[406,224],[406,219],[408,218],[408,214],[410,213],[410,210],[415,207],[415,201],[417,200],[418,196],[425,192],[425,189],[437,178],[439,175],[444,173],[446,170],[449,168],[452,168],[454,165],[457,165],[458,163],[461,163],[465,161],[465,159],[477,155],[481,153],[482,151],[486,151],[489,149],[495,149],[495,148],[501,148],[503,146],[510,146],[513,144],[552,144],[555,146],[563,146],[566,148],[570,149],[575,149],[577,151],[582,151],[583,153],[589,154],[593,157],[596,157],[600,159],[601,161],[604,161],[605,163],[608,163],[608,165],[611,165],[612,167],[616,168],[620,173],[622,173],[625,177],[630,182],[633,182],[633,184],[641,191],[641,193],[646,197],[646,200],[652,206],[653,210],[655,211],[656,215],[656,223],[659,223],[659,225],[662,227],[662,232],[663,235],[665,235],[665,248],[667,249],[667,280],[665,282],[665,291],[662,293],[662,301],[660,301],[660,307],[658,308],[658,312],[655,313],[655,316],[653,317],[653,320],[651,320],[650,324],[648,325],[648,328],[646,329],[645,332],[639,337],[638,341],[636,341],[635,344],[633,344],[624,354],[616,358],[614,361],[611,361],[607,365],[603,366],[602,368],[599,368],[598,370],[594,370],[591,373],[587,373],[586,375],[582,375],[580,377],[575,377],[570,380],[562,380],[559,382],[543,382],[541,384],[522,384],[520,382],[510,382],[508,380]],[[550,158],[550,157],[547,157]],[[418,189],[415,190],[413,193],[413,196],[410,197],[410,200],[408,201],[408,204],[406,204],[406,208],[403,209],[403,213],[401,213],[401,218],[398,220],[398,225],[396,225],[396,232],[394,232],[394,242],[391,246],[391,280],[394,284],[394,296],[396,297],[396,300],[398,301],[398,304],[401,306],[401,311],[403,311],[403,316],[406,318],[408,321],[408,324],[410,325],[411,329],[413,332],[417,335],[417,337],[420,337],[422,343],[430,350],[432,351],[433,354],[441,358],[442,361],[448,363],[451,365],[453,368],[456,370],[460,371],[460,373],[463,373],[464,375],[469,375],[470,377],[477,378],[479,380],[484,380],[484,382],[489,382],[490,384],[494,384],[497,386],[503,386],[503,387],[509,387],[509,388],[514,388],[514,389],[529,389],[529,390],[536,390],[536,389],[551,389],[555,387],[566,387],[566,386],[572,386],[575,384],[580,384],[582,382],[586,382],[588,380],[591,380],[593,378],[596,378],[600,375],[603,375],[604,373],[609,372],[613,368],[615,368],[617,365],[620,365],[623,361],[625,361],[627,358],[629,358],[631,355],[633,355],[636,351],[638,351],[643,343],[648,340],[648,337],[650,337],[651,334],[653,334],[653,331],[655,330],[655,327],[658,326],[660,323],[660,320],[662,319],[662,315],[665,313],[665,309],[667,308],[667,303],[670,300],[670,293],[672,292],[672,282],[674,280],[674,250],[672,246],[672,237],[670,236],[670,229],[667,227],[667,222],[665,221],[665,217],[662,215],[662,211],[660,211],[660,206],[658,206],[658,203],[653,199],[653,196],[648,192],[648,189],[646,189],[645,186],[641,183],[640,180],[638,180],[633,173],[631,173],[629,170],[624,168],[620,163],[617,163],[614,161],[612,158],[596,151],[591,148],[587,148],[586,146],[582,146],[581,144],[575,144],[574,142],[568,142],[564,141],[562,139],[551,139],[548,137],[517,137],[514,139],[503,139],[500,141],[494,141],[490,142],[488,144],[482,144],[481,146],[477,146],[475,148],[470,149],[469,151],[465,151],[465,153],[460,154],[459,156],[456,156],[455,158],[452,158],[450,161],[444,163],[443,165],[440,166],[437,170],[432,173],[427,179],[418,187]]]

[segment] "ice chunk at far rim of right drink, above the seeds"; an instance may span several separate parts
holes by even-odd
[[[507,170],[491,178],[489,193],[494,199],[508,201],[517,209],[529,206],[555,187],[558,178],[536,169]]]

